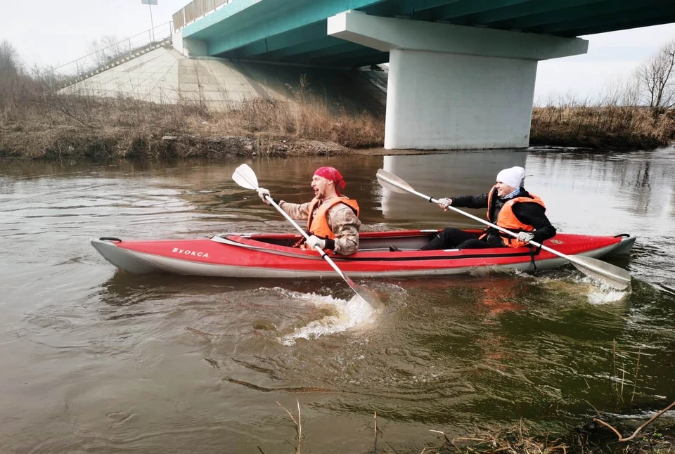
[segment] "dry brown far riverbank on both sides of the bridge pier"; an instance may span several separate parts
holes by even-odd
[[[0,112],[0,157],[172,159],[340,155],[381,148],[385,119],[369,112],[249,100],[226,112],[179,103],[34,93]],[[534,108],[530,145],[651,149],[675,138],[675,113],[587,105]]]

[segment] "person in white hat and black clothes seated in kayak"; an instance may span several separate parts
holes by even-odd
[[[487,208],[488,221],[517,232],[518,238],[492,227],[477,234],[446,227],[421,250],[522,247],[532,240],[541,244],[553,238],[555,227],[546,217],[544,202],[521,186],[524,178],[525,169],[522,167],[503,169],[497,174],[496,184],[487,194],[462,195],[438,201],[439,207],[445,211],[450,205],[458,208]]]

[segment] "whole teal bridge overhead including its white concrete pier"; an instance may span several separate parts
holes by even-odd
[[[230,60],[388,62],[385,148],[518,148],[539,60],[586,53],[581,35],[667,22],[674,0],[233,0],[184,27],[181,46]]]

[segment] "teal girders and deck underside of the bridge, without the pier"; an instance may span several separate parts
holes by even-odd
[[[359,67],[389,54],[326,33],[347,10],[454,25],[579,37],[675,22],[675,0],[233,0],[183,29],[209,56]]]

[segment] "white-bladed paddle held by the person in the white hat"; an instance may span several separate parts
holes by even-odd
[[[418,193],[416,190],[412,188],[412,186],[410,186],[404,180],[400,179],[398,176],[391,174],[386,170],[383,169],[378,170],[377,176],[378,182],[380,183],[380,186],[382,186],[383,188],[387,188],[396,193],[411,193],[414,195],[418,195],[423,199],[428,200],[429,202],[438,203],[438,200],[436,200],[434,197],[429,197],[428,195],[424,195],[423,193]],[[508,231],[506,228],[502,228],[500,226],[495,225],[494,223],[485,221],[484,219],[480,219],[479,217],[474,216],[473,214],[463,212],[461,209],[457,209],[452,205],[450,205],[448,208],[453,210],[454,212],[463,214],[464,216],[468,216],[475,221],[484,223],[486,226],[496,228],[497,230],[506,233],[507,235],[511,235],[513,237],[518,236],[518,233],[513,233],[512,231]],[[541,247],[541,249],[551,252],[551,254],[555,254],[558,257],[562,257],[563,259],[572,262],[572,264],[576,266],[577,269],[579,269],[579,271],[588,275],[589,278],[599,281],[600,283],[603,283],[608,287],[612,287],[617,290],[624,290],[626,287],[631,285],[631,275],[628,271],[624,270],[623,268],[610,265],[605,261],[593,259],[591,257],[565,255],[562,252],[556,251],[555,249],[551,249],[550,247],[540,245],[538,242],[535,241],[530,241],[529,244],[534,245],[536,247]]]

